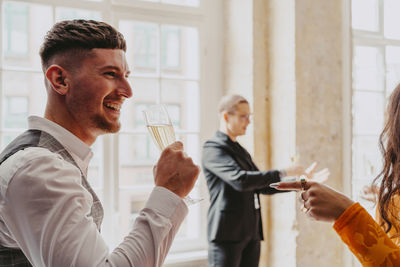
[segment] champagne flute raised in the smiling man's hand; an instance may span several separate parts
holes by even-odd
[[[147,130],[160,151],[175,142],[174,127],[164,105],[159,104],[148,107],[143,111],[143,116]],[[187,205],[196,204],[201,200],[203,199],[193,199],[190,196],[184,198]]]

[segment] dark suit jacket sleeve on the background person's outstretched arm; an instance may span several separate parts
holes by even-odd
[[[279,171],[247,171],[220,145],[206,142],[203,147],[203,168],[224,180],[237,191],[260,190],[264,194],[278,192],[269,184],[280,181]]]

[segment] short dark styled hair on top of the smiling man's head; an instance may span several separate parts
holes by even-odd
[[[82,59],[94,48],[122,49],[126,52],[126,42],[120,32],[105,22],[82,19],[58,22],[47,32],[40,48],[42,68],[47,69],[55,55]]]

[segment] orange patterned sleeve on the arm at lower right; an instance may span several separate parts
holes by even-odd
[[[345,210],[333,228],[363,266],[400,266],[400,248],[359,203]]]

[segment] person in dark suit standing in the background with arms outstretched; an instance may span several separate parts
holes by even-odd
[[[250,123],[248,101],[225,96],[219,106],[220,130],[203,146],[202,165],[210,192],[208,261],[210,266],[258,266],[263,239],[259,194],[282,191],[269,187],[284,176],[305,174],[300,165],[260,171],[237,141]]]

